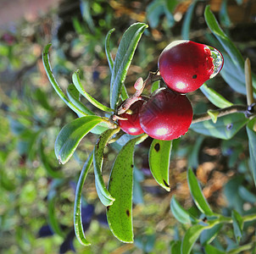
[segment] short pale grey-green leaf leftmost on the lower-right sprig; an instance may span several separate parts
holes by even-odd
[[[181,223],[181,224],[191,224],[192,222],[197,222],[198,219],[195,218],[191,213],[186,211],[181,204],[176,201],[175,196],[172,196],[170,201],[170,210],[174,217]]]

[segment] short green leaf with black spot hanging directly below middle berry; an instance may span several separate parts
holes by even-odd
[[[151,173],[154,179],[166,191],[170,191],[169,167],[171,145],[172,141],[159,141],[154,139],[148,153]]]

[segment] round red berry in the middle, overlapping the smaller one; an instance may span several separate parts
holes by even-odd
[[[192,123],[192,106],[186,95],[168,88],[155,91],[140,112],[142,130],[162,141],[185,135]]]

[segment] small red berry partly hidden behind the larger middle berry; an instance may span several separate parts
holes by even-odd
[[[140,100],[134,102],[129,109],[131,109],[132,113],[122,113],[120,117],[127,120],[118,120],[121,130],[124,130],[125,133],[130,135],[140,135],[144,133],[142,130],[140,119],[139,119],[139,111],[142,108],[142,105],[145,101]]]

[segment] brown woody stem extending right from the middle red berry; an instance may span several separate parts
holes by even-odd
[[[247,114],[247,107],[243,105],[232,105],[231,107],[228,107],[228,108],[220,108],[220,109],[212,110],[212,112],[218,113],[218,118],[231,113]],[[211,119],[211,116],[209,115],[209,113],[194,114],[194,117],[192,119],[192,124],[203,122],[210,119]]]

